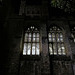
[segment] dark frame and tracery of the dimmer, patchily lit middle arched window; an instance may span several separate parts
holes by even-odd
[[[53,27],[56,27],[56,30],[50,30],[50,29],[53,29]],[[52,33],[54,33],[55,37],[52,37]],[[51,34],[51,41],[49,40],[50,39],[49,34]],[[59,35],[59,37],[57,37],[57,34]],[[60,37],[60,34],[62,34],[62,37]],[[55,41],[53,41],[53,38],[55,38]],[[59,39],[59,42],[57,41],[57,39]],[[60,39],[62,39],[63,41],[61,41]],[[56,49],[55,49],[56,54],[54,54],[54,49],[53,49],[54,43],[56,45]],[[52,46],[50,46],[50,44]],[[63,46],[61,46],[61,45],[63,45]],[[62,49],[62,47],[64,47],[64,49]],[[52,48],[52,50],[51,50],[52,53],[50,53],[51,52],[50,48]],[[61,52],[58,51],[59,48],[61,48],[60,49]],[[55,25],[52,26],[52,27],[49,27],[49,29],[48,29],[48,49],[49,49],[49,55],[55,55],[55,56],[58,56],[58,55],[60,55],[60,56],[64,55],[65,56],[66,55],[66,47],[65,47],[65,43],[64,43],[64,34],[63,34],[63,31],[62,31],[61,28],[59,28],[59,27],[57,27]],[[65,52],[63,52],[63,51],[65,51]]]

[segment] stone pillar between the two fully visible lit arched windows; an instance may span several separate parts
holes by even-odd
[[[48,40],[46,32],[46,24],[42,27],[42,59],[41,59],[41,75],[50,75],[50,62],[48,55]]]

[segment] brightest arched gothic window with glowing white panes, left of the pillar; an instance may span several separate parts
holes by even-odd
[[[40,33],[34,26],[24,32],[23,55],[40,55]]]

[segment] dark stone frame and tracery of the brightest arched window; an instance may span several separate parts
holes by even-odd
[[[35,27],[35,26],[30,26],[30,27]],[[29,27],[29,28],[30,28],[30,27]],[[35,28],[36,28],[36,27],[35,27]],[[24,40],[25,40],[25,33],[28,33],[28,34],[31,33],[31,42],[28,42],[28,41],[25,42],[25,41],[24,41]],[[39,38],[39,41],[38,41],[38,42],[33,42],[33,38],[34,38],[34,37],[33,37],[33,34],[34,34],[34,33],[35,33],[35,34],[39,33],[39,37],[36,37],[36,36],[35,36],[36,39]],[[30,37],[28,37],[28,38],[30,38]],[[30,53],[29,55],[26,53],[26,55],[24,55],[24,54],[23,54],[24,43],[26,43],[26,44],[30,43],[30,44],[31,44],[31,52],[32,52],[32,47],[33,47],[32,44],[33,44],[33,43],[34,43],[35,45],[36,45],[36,44],[39,44],[39,54],[36,54],[36,52],[35,52],[34,55],[33,55],[32,53]],[[36,46],[35,46],[35,48],[36,48]],[[26,57],[26,56],[27,56],[27,57],[30,57],[30,56],[36,57],[36,56],[37,56],[37,57],[39,57],[40,55],[41,55],[40,31],[38,30],[38,28],[37,28],[37,32],[35,32],[34,30],[27,32],[26,29],[24,29],[24,31],[23,31],[22,56],[25,56],[25,57]]]

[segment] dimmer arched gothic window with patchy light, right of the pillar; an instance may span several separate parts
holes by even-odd
[[[65,46],[62,30],[56,26],[49,29],[49,52],[50,55],[65,55]]]

